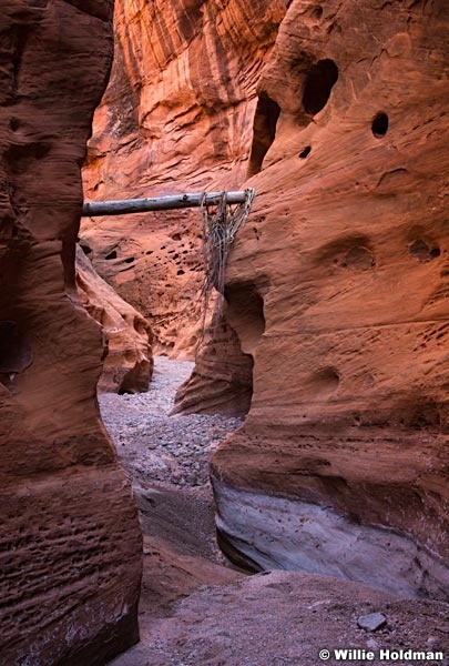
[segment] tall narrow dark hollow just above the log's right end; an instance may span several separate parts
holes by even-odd
[[[280,107],[266,92],[261,92],[253,125],[247,178],[259,173],[264,158],[276,137],[276,124]]]

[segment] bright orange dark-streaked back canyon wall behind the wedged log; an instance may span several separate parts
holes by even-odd
[[[256,84],[284,0],[115,2],[115,58],[95,113],[85,200],[239,189]],[[149,319],[155,350],[192,355],[201,213],[85,220],[93,264]]]

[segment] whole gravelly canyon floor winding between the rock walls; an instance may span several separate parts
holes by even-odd
[[[247,576],[226,564],[215,542],[207,462],[241,421],[170,415],[175,390],[192,367],[161,356],[149,393],[100,396],[103,420],[132,477],[144,533],[141,643],[112,664],[448,665],[445,603],[398,599],[300,572]],[[363,628],[360,618],[374,613],[384,616],[380,626]]]

